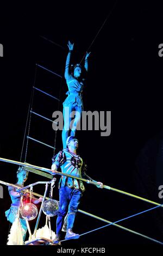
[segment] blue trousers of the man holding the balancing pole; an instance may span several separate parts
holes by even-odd
[[[64,224],[64,218],[67,215],[67,229],[73,228],[73,223],[78,211],[80,198],[82,197],[81,190],[75,190],[70,187],[61,187],[59,190],[59,211],[57,217],[56,234],[59,235]]]

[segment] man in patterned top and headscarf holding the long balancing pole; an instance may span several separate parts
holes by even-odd
[[[78,140],[74,136],[70,136],[66,141],[67,150],[62,150],[55,157],[52,164],[52,174],[55,175],[55,171],[60,166],[62,173],[71,174],[73,176],[88,179],[96,182],[97,187],[102,188],[102,182],[92,180],[85,173],[85,168],[82,158],[77,154]],[[78,211],[80,198],[82,197],[85,187],[83,182],[70,177],[61,176],[59,182],[59,211],[57,217],[57,230],[53,243],[59,243],[62,225],[64,224],[64,218],[67,215],[67,231],[65,239],[78,239],[79,235],[73,233],[73,223]]]

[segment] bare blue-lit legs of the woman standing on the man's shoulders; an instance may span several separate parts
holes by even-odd
[[[66,115],[68,115],[67,109],[69,110],[69,114],[72,111],[76,112],[76,116],[74,118],[71,118],[70,116],[66,117]],[[62,130],[62,143],[63,143],[63,148],[66,148],[66,139],[68,138],[68,136],[76,135],[77,126],[82,116],[82,106],[79,107],[76,103],[72,105],[70,104],[68,106],[65,105],[63,109],[63,115],[64,115],[64,128]]]

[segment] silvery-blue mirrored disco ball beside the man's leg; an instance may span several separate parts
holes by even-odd
[[[43,203],[42,211],[45,215],[53,217],[58,214],[59,203],[57,200],[48,199]]]

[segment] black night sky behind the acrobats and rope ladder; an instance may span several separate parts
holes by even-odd
[[[92,178],[159,202],[163,58],[158,56],[158,46],[162,43],[162,9],[159,4],[146,1],[121,2],[117,1],[114,10],[115,1],[109,4],[106,1],[92,4],[71,1],[55,6],[46,2],[19,6],[20,11],[14,3],[13,7],[4,9],[0,35],[0,43],[4,46],[0,78],[1,157],[20,160],[35,64],[64,74],[67,50],[41,36],[65,48],[68,40],[73,41],[73,61],[79,62],[112,10],[90,48],[90,73],[83,98],[86,111],[111,111],[111,135],[101,137],[99,131],[79,131],[79,153],[89,165],[88,173]],[[58,95],[61,84],[61,101],[65,99],[65,80],[61,82],[38,68],[35,84],[54,96]],[[57,105],[35,93],[33,109],[51,119]],[[32,116],[30,135],[54,145],[55,133],[48,121]],[[31,141],[28,149],[27,162],[51,166],[53,150]],[[57,150],[60,149],[61,133],[58,132]],[[16,182],[16,169],[12,164],[1,163],[1,180]],[[36,180],[38,176],[30,174],[27,184]],[[120,220],[152,207],[116,192],[98,190],[91,185],[86,188],[80,209],[106,220]],[[36,189],[43,190],[42,187]],[[58,199],[57,188],[55,193]],[[9,224],[4,211],[10,205],[5,187],[4,199],[0,200],[1,227],[5,230],[1,244],[5,245]],[[161,210],[154,211],[120,224],[162,240]],[[55,220],[53,228],[54,223]],[[103,224],[78,214],[74,230],[84,233]],[[153,245],[149,240],[116,227],[85,235],[74,244],[84,244],[88,240],[95,244]]]

